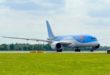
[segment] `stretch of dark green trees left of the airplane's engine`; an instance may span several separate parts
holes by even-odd
[[[29,50],[51,50],[49,44],[1,44],[1,51],[29,51]]]

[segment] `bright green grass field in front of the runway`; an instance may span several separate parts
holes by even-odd
[[[110,55],[0,54],[0,75],[110,75]]]

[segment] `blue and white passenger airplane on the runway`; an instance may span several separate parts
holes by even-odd
[[[92,35],[66,35],[66,36],[55,36],[52,32],[50,24],[46,21],[48,39],[32,39],[32,38],[19,38],[19,37],[7,37],[0,36],[3,38],[11,38],[11,39],[22,39],[22,40],[33,40],[33,41],[42,41],[50,44],[51,48],[56,50],[57,52],[62,52],[64,47],[75,48],[75,52],[80,52],[80,47],[91,47],[90,51],[100,47],[100,44],[96,37]]]

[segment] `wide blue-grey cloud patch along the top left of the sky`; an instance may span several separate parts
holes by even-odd
[[[56,0],[7,0],[0,3],[0,6],[4,6],[11,10],[32,12],[32,13],[51,13],[62,11],[64,8],[64,1]]]

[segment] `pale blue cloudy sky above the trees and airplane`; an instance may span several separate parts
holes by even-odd
[[[110,0],[0,0],[1,36],[47,39],[46,20],[55,35],[91,34],[110,46]]]

